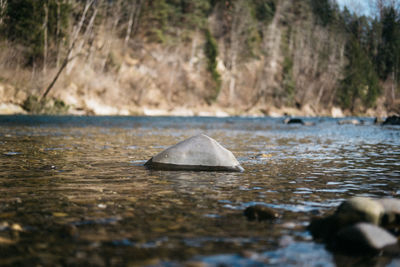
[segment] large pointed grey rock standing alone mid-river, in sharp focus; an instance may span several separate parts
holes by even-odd
[[[204,134],[167,148],[145,163],[149,169],[242,172],[235,156]]]

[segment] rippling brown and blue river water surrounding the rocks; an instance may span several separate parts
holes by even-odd
[[[398,266],[306,227],[351,196],[400,197],[400,127],[304,120],[0,116],[0,266]],[[199,133],[245,172],[143,167]],[[253,204],[280,217],[248,221]]]

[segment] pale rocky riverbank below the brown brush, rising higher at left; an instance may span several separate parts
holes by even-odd
[[[73,89],[74,85],[70,85]],[[25,90],[0,83],[0,114],[69,114],[69,115],[138,115],[138,116],[329,116],[345,117],[351,115],[369,116],[369,117],[387,117],[391,115],[383,105],[378,105],[376,109],[369,109],[363,114],[351,114],[349,111],[342,110],[339,107],[323,108],[305,105],[302,107],[275,107],[266,105],[256,105],[253,107],[235,106],[229,107],[221,105],[218,102],[212,104],[206,103],[188,103],[187,105],[176,105],[167,102],[162,96],[152,95],[149,99],[157,99],[157,104],[150,100],[143,101],[138,105],[134,102],[110,103],[107,98],[92,95],[68,94],[74,92],[67,88],[57,97],[47,99],[40,104],[38,97],[29,95]],[[153,100],[154,100],[153,99]],[[38,108],[38,105],[42,107]]]

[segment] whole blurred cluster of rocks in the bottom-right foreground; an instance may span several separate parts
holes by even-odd
[[[333,214],[314,218],[308,230],[335,250],[399,253],[399,216],[399,199],[353,197]]]

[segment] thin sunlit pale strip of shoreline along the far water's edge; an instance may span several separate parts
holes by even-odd
[[[70,107],[65,113],[30,113],[24,110],[21,105],[15,103],[0,103],[0,115],[75,115],[75,116],[176,116],[176,117],[371,117],[385,118],[391,113],[386,110],[367,110],[362,114],[351,114],[338,107],[331,109],[314,110],[310,106],[302,109],[292,107],[253,107],[251,109],[226,108],[219,105],[198,106],[198,107],[149,107],[131,106],[116,108],[108,105],[92,106],[91,108]]]

